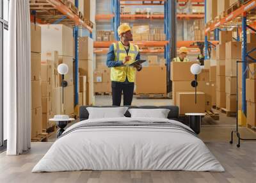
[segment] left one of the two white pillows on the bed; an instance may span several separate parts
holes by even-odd
[[[86,107],[89,113],[89,119],[96,118],[120,118],[125,117],[124,114],[128,107]]]

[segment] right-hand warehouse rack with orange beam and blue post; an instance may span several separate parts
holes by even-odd
[[[205,1],[205,4],[207,2]],[[220,28],[230,28],[230,27],[237,27],[237,41],[240,40],[239,38],[239,31],[242,32],[242,55],[241,55],[241,63],[242,63],[242,111],[241,111],[241,123],[246,123],[246,73],[247,71],[247,63],[256,61],[255,58],[252,58],[249,54],[251,52],[256,51],[256,47],[253,48],[250,51],[247,51],[246,44],[247,44],[247,35],[246,30],[251,29],[252,31],[256,32],[255,24],[256,24],[256,0],[248,0],[245,3],[241,4],[239,8],[236,10],[233,10],[232,12],[228,13],[224,17],[222,17],[220,20],[215,20],[207,25],[205,28],[205,47],[208,44],[207,42],[207,33],[209,31],[215,31],[216,38],[218,39],[218,31],[220,31]],[[205,12],[206,15],[207,12]],[[205,21],[206,23],[206,21]],[[207,57],[207,51],[205,51],[205,57]],[[256,62],[255,62],[256,63]],[[237,95],[238,100],[238,95]],[[238,113],[237,113],[238,115]],[[241,138],[239,134],[239,128],[238,128],[238,118],[236,123],[236,130],[231,132],[231,141],[230,143],[233,143],[233,134],[235,133],[238,138],[237,147],[240,147],[240,140],[256,140],[256,139],[244,139]]]

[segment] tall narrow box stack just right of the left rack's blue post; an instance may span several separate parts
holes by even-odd
[[[94,104],[93,71],[95,61],[93,60],[93,40],[90,37],[79,37],[78,39],[79,75],[86,76],[86,103]]]

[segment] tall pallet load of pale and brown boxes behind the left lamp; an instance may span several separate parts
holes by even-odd
[[[73,36],[72,28],[67,26],[41,25],[42,28],[42,113],[43,128],[47,132],[56,129],[56,123],[49,122],[54,115],[74,114],[74,77],[73,77]],[[64,87],[62,107],[61,75],[58,65],[65,63],[68,73],[64,76],[67,86]]]

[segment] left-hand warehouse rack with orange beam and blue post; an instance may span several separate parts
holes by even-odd
[[[77,11],[78,0],[75,1],[76,7],[68,7],[63,0],[30,0],[31,21],[39,24],[65,24],[72,26],[75,41],[75,106],[78,104],[78,29],[85,28],[92,38],[93,24],[81,16]]]

